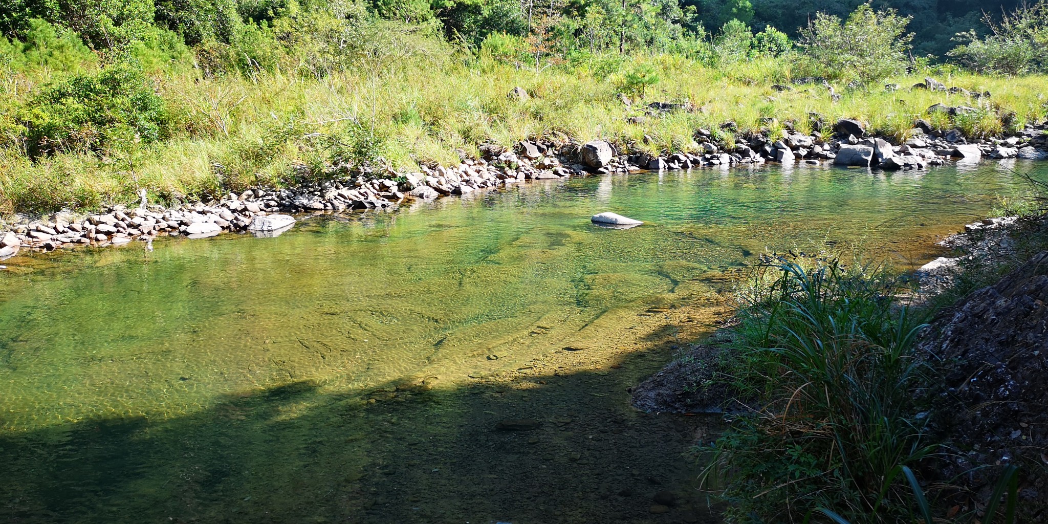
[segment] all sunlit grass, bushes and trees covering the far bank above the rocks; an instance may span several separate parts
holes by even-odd
[[[711,5],[7,3],[0,211],[94,209],[139,189],[172,202],[385,174],[527,137],[691,151],[700,128],[733,145],[734,134],[773,136],[784,125],[807,131],[812,113],[902,139],[915,118],[947,117],[930,106],[970,104],[907,87],[925,75],[992,93],[953,123],[970,136],[1045,117],[1043,4],[971,26],[936,59],[913,53],[910,18],[869,4],[844,18],[814,14],[789,35],[747,25],[759,9],[745,0],[717,10],[727,21],[709,30],[719,20]],[[526,94],[507,96],[517,87]],[[646,114],[651,102],[689,110]],[[722,131],[727,121],[736,126]]]

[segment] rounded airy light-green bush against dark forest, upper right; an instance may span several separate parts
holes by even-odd
[[[910,17],[894,9],[874,12],[859,5],[848,20],[820,13],[801,30],[801,47],[813,75],[872,83],[907,71],[913,35]]]

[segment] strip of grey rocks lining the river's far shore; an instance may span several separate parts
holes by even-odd
[[[970,109],[937,106],[940,107],[936,110],[951,114]],[[683,105],[654,102],[648,106],[647,114],[659,117],[687,110],[690,108]],[[39,219],[16,215],[10,222],[0,222],[0,260],[19,253],[85,244],[148,242],[160,235],[204,238],[222,232],[253,232],[272,236],[293,224],[288,214],[386,210],[409,198],[431,200],[445,195],[466,195],[485,188],[570,176],[766,161],[909,170],[942,165],[951,158],[1048,158],[1048,123],[1029,125],[1016,136],[970,144],[956,129],[932,129],[927,122],[917,121],[911,138],[892,144],[883,137],[863,137],[866,135],[864,125],[851,118],[837,121],[832,126],[834,137],[823,139],[818,133],[828,127],[827,123],[815,114],[811,118],[814,134],[795,133],[792,123],[784,122],[781,139],[772,140],[767,133],[750,134],[738,138],[734,148],[727,149],[715,144],[717,133],[698,129],[691,149],[702,151],[701,154],[628,154],[625,151],[638,149],[636,144],[625,147],[605,140],[580,144],[562,135],[552,140],[523,140],[512,149],[483,145],[479,148],[481,158],[465,158],[454,167],[420,166],[419,171],[411,173],[389,170],[381,175],[358,174],[307,182],[293,189],[253,189],[206,203],[183,203],[166,209],[149,205],[143,194],[141,204],[133,209],[114,205],[104,213],[90,215],[65,211]],[[771,121],[769,118],[768,123]],[[732,122],[720,127],[725,132],[737,130]]]

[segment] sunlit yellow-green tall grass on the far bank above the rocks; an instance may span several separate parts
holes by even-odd
[[[680,56],[656,54],[607,63],[592,59],[537,73],[436,43],[424,52],[409,49],[384,60],[322,78],[280,70],[262,70],[249,78],[204,77],[190,67],[153,70],[153,85],[167,104],[170,128],[165,139],[133,148],[139,183],[152,199],[170,202],[252,185],[286,185],[304,173],[329,176],[339,166],[354,170],[365,161],[395,170],[416,169],[419,163],[454,165],[463,154],[476,155],[482,143],[511,146],[528,137],[606,138],[653,154],[694,152],[698,128],[716,130],[734,121],[739,132],[721,137],[727,143],[760,130],[767,117],[776,118],[772,132],[787,121],[808,130],[812,112],[830,123],[856,117],[875,133],[904,138],[913,118],[937,122],[937,116],[925,114],[929,106],[974,104],[955,94],[917,89],[885,92],[876,86],[855,91],[838,86],[844,97],[837,103],[822,86],[777,92],[769,86],[787,82],[792,74],[789,61],[777,59],[755,59],[719,70]],[[659,81],[628,108],[617,94],[624,91],[627,75],[640,66],[654,68]],[[29,161],[19,139],[20,111],[49,82],[64,77],[47,68],[8,70],[0,77],[4,79],[0,82],[4,211],[90,209],[135,198],[126,173],[132,153],[125,145],[58,152]],[[920,78],[888,81],[912,85]],[[1029,122],[1040,122],[1045,114],[1040,95],[1044,77],[961,74],[942,80],[994,93],[994,106],[980,110],[978,117],[940,122],[944,127],[957,125],[974,134],[1000,132],[998,106]],[[516,86],[531,97],[507,99]],[[690,102],[698,109],[649,117],[641,125],[627,122],[642,114],[652,101]],[[646,134],[653,140],[646,141]],[[318,137],[333,140],[325,145]],[[348,146],[330,147],[334,143]]]

